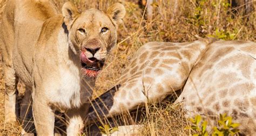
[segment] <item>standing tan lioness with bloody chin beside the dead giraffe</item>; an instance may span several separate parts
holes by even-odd
[[[68,115],[68,135],[83,128],[95,77],[117,41],[125,8],[79,12],[70,2],[58,14],[49,1],[10,0],[0,28],[5,77],[5,122],[16,121],[17,82],[32,90],[38,135],[53,135],[55,110]],[[26,106],[21,106],[26,118]],[[25,110],[24,110],[25,109]],[[83,111],[80,114],[80,111]]]

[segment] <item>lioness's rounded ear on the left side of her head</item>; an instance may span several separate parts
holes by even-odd
[[[75,5],[71,2],[66,2],[62,6],[62,15],[64,17],[64,23],[66,26],[70,26],[72,21],[79,15],[79,11]]]

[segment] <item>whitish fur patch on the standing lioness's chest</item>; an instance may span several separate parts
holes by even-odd
[[[80,106],[80,75],[79,69],[75,66],[69,68],[59,68],[58,77],[55,78],[57,83],[52,83],[52,95],[50,101],[53,105],[59,106],[60,109],[70,109]]]

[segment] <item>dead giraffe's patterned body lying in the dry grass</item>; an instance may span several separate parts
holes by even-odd
[[[158,103],[183,88],[176,103],[183,102],[188,118],[201,114],[216,125],[216,117],[227,113],[240,123],[241,133],[255,134],[256,43],[204,41],[145,44],[119,78],[114,95],[107,91],[99,97],[107,109],[93,101],[96,110],[90,108],[87,121],[96,120],[97,112],[111,117]]]

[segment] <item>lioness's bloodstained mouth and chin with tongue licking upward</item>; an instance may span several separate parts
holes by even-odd
[[[103,61],[99,61],[96,58],[87,58],[84,53],[80,55],[81,60],[81,72],[83,76],[97,77],[103,67]]]

